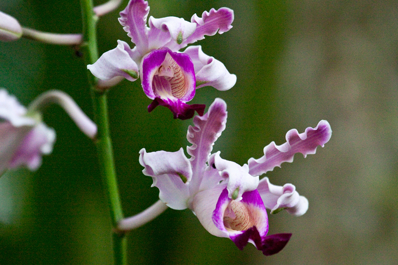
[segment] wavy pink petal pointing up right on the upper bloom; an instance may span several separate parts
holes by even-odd
[[[180,45],[175,43],[174,47],[171,45],[168,47],[173,51],[180,50],[190,43],[204,39],[205,35],[212,36],[217,33],[217,31],[219,34],[222,34],[232,28],[231,23],[233,19],[233,10],[227,7],[221,7],[218,10],[211,8],[209,12],[204,11],[201,17],[194,14],[191,18],[191,22],[197,23],[195,32]]]

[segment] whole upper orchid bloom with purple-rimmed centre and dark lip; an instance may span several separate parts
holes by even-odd
[[[215,33],[232,28],[233,11],[222,7],[204,11],[201,17],[194,14],[191,22],[174,16],[154,18],[147,16],[148,2],[130,0],[120,12],[119,22],[135,47],[118,40],[117,47],[105,52],[100,59],[87,68],[101,80],[122,76],[129,81],[141,79],[145,94],[153,99],[148,106],[151,112],[156,106],[168,107],[174,118],[189,119],[195,114],[203,115],[205,105],[188,105],[195,90],[212,86],[227,90],[236,83],[218,60],[204,54],[200,46],[187,47]]]

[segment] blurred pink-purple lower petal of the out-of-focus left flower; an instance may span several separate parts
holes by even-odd
[[[50,154],[55,142],[55,131],[44,123],[35,126],[26,134],[19,148],[9,162],[10,168],[26,165],[29,170],[40,167],[42,154]]]

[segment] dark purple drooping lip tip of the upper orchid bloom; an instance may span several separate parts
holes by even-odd
[[[195,115],[195,111],[198,112],[200,116],[204,113],[204,108],[206,105],[202,104],[193,104],[188,105],[181,100],[172,101],[172,100],[163,100],[159,97],[156,97],[151,104],[148,106],[148,112],[151,112],[157,106],[165,106],[168,107],[171,112],[173,112],[175,119],[186,120],[191,119]]]

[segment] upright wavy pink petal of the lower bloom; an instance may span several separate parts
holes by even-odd
[[[211,175],[213,177],[206,175],[207,178],[203,176],[213,144],[225,129],[226,107],[224,100],[221,98],[214,99],[206,114],[201,117],[194,117],[195,126],[190,125],[188,127],[187,139],[192,146],[187,147],[187,152],[191,155],[193,174],[196,176],[191,181],[191,190],[199,190],[200,187],[208,186],[207,182],[213,183],[214,176],[219,179],[216,175]]]

